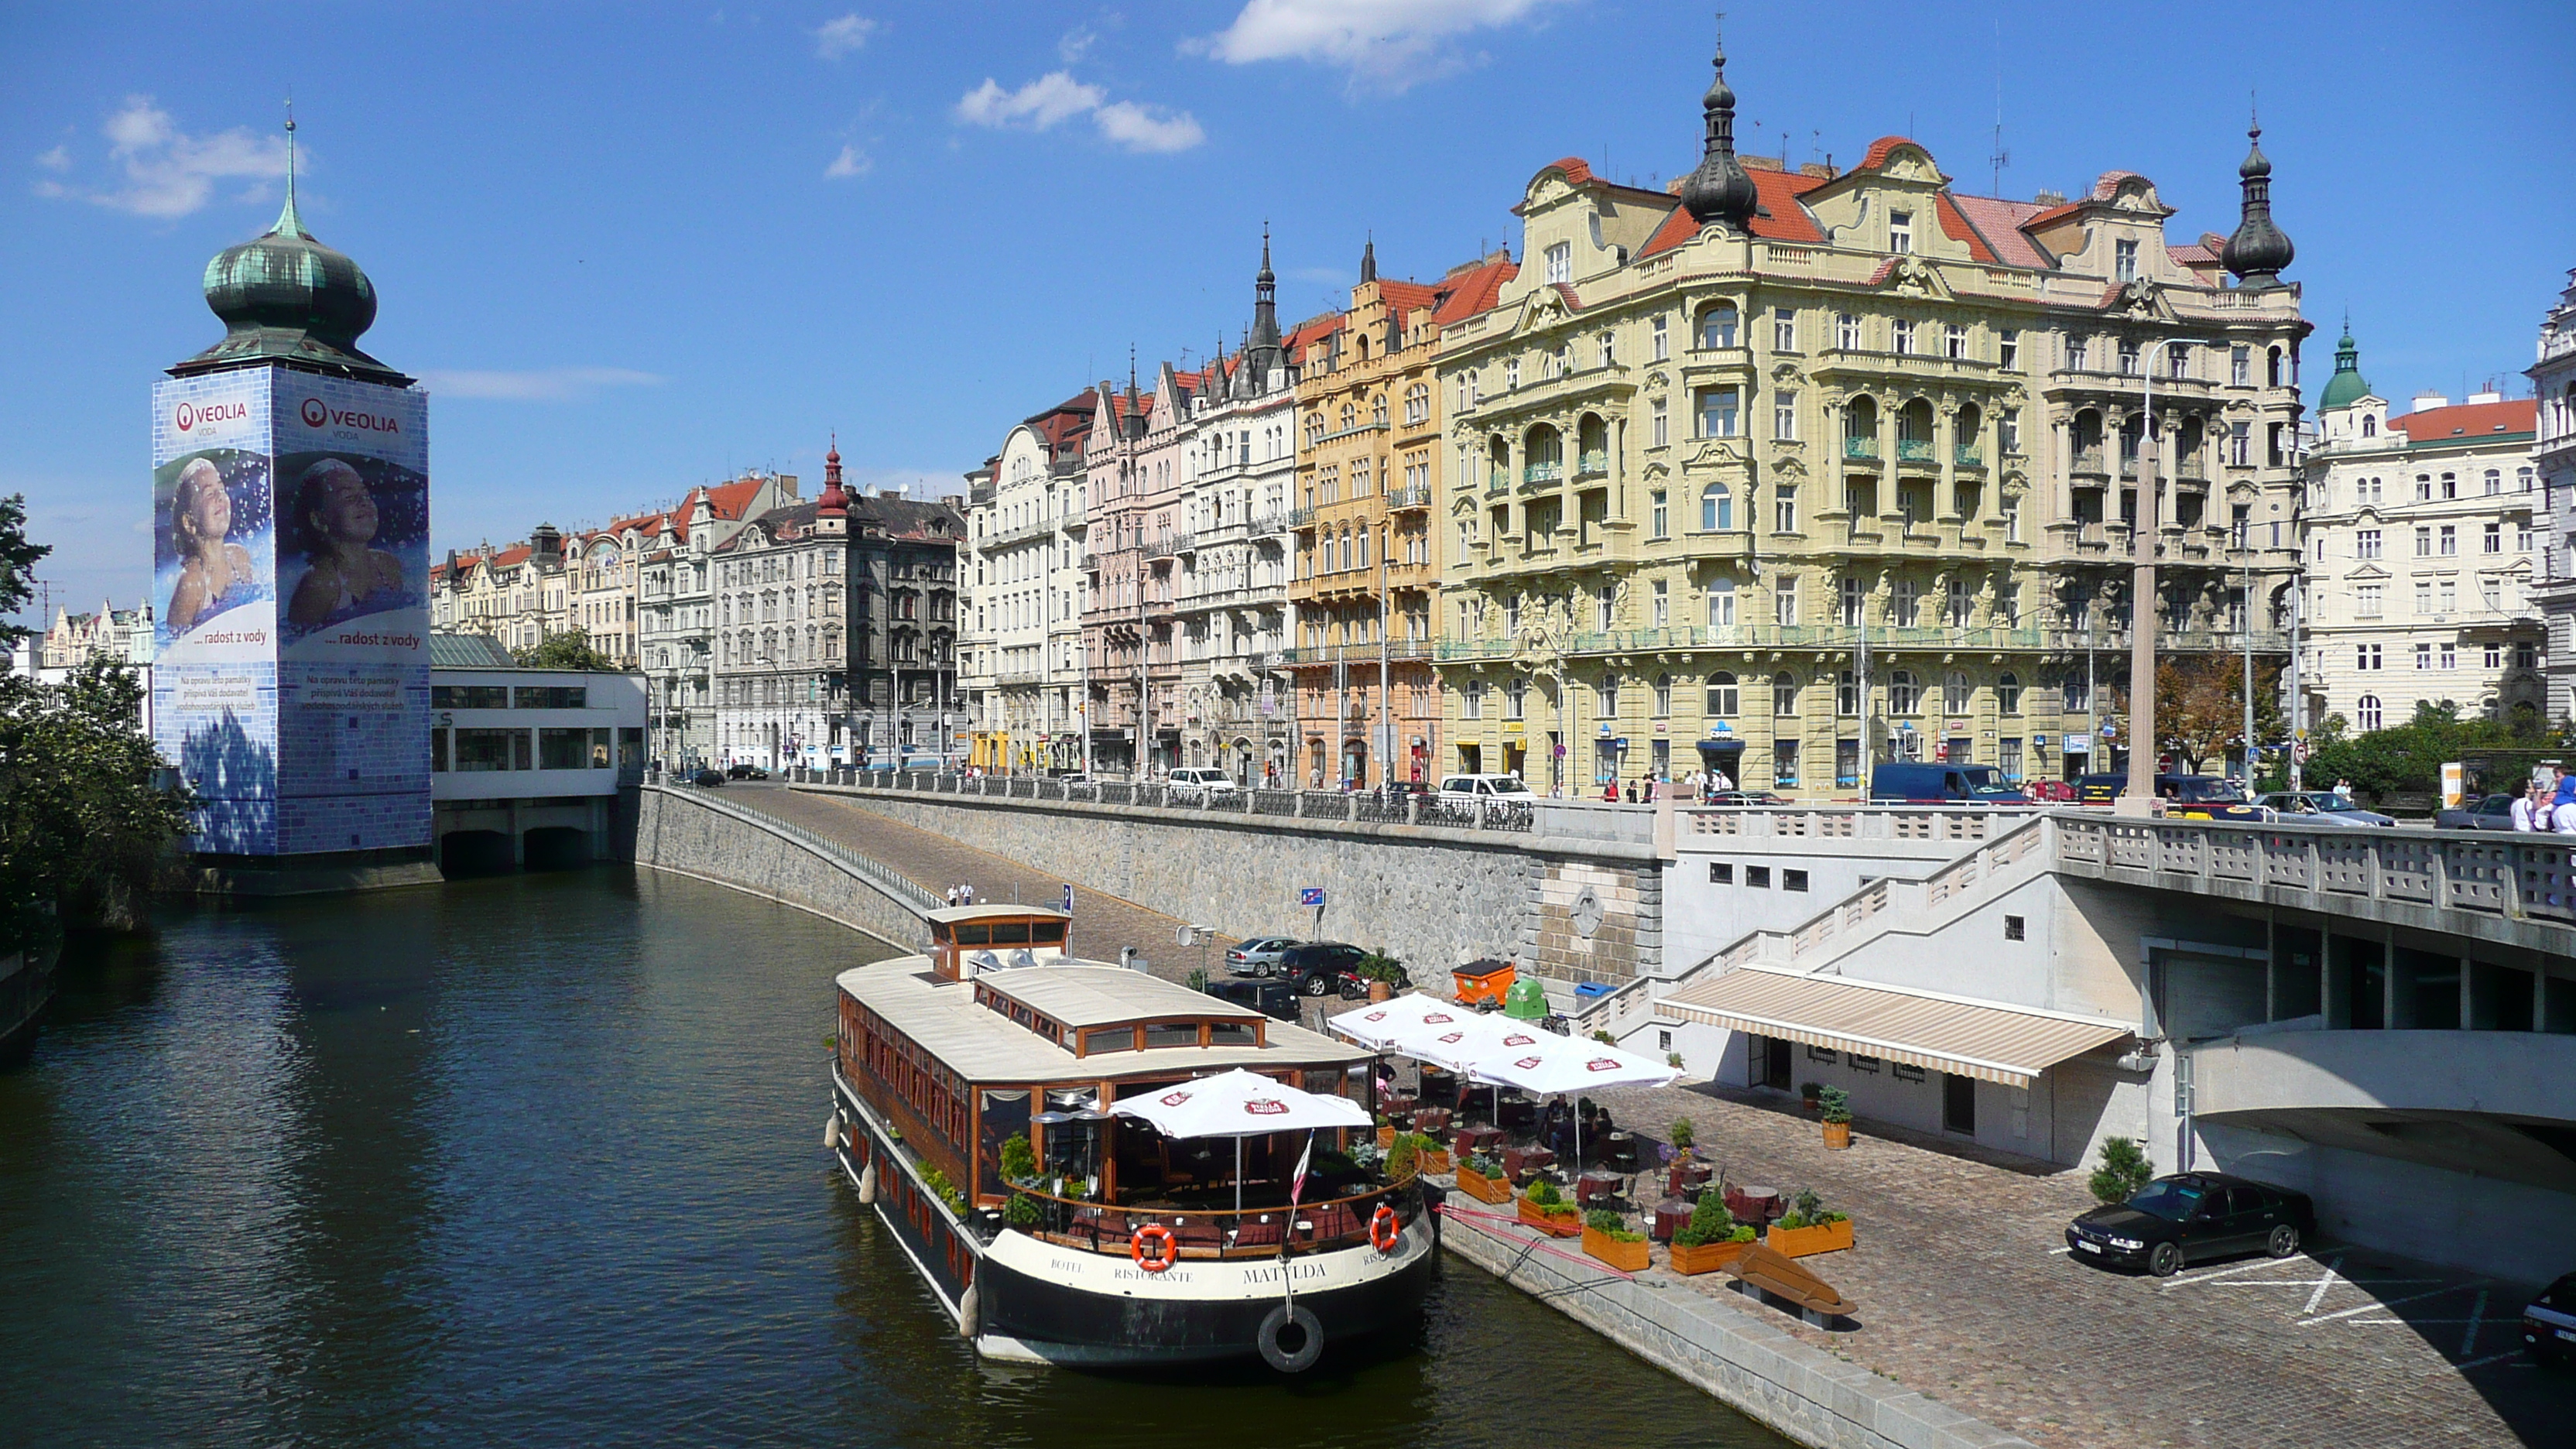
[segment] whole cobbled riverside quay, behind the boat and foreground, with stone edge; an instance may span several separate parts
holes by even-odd
[[[1061,890],[1059,874],[902,825],[863,799],[770,786],[708,794],[886,861],[933,892],[974,882],[979,900],[1056,900]],[[1077,884],[1082,954],[1115,959],[1118,946],[1139,946],[1157,975],[1180,980],[1198,949],[1175,946],[1175,926]],[[2081,1171],[1981,1158],[1873,1122],[1857,1124],[1852,1150],[1829,1152],[1795,1104],[1708,1083],[1595,1096],[1649,1137],[1690,1116],[1700,1155],[1731,1183],[1816,1189],[1850,1212],[1855,1248],[1806,1266],[1860,1305],[1852,1328],[1826,1333],[1749,1305],[1726,1274],[1674,1276],[1662,1248],[1628,1281],[1579,1256],[1528,1250],[1517,1225],[1461,1214],[1445,1243],[1808,1444],[2550,1444],[2576,1413],[2576,1382],[2519,1354],[2517,1312],[2535,1284],[2331,1243],[2161,1281],[2110,1274],[2063,1250],[2066,1220],[2092,1204]],[[1571,1253],[1571,1243],[1558,1248]]]

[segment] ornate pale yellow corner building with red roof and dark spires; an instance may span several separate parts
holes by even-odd
[[[1904,137],[1739,157],[1723,59],[1690,178],[1540,168],[1520,273],[1440,327],[1440,768],[2110,768],[2141,451],[2159,647],[2285,652],[2308,322],[2262,152],[2236,235],[2169,245],[2125,170],[2007,201]]]

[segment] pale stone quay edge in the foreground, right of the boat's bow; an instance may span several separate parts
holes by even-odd
[[[1463,1209],[1463,1204],[1450,1199]],[[1981,1418],[1814,1348],[1765,1315],[1682,1284],[1620,1279],[1530,1250],[1530,1232],[1443,1214],[1440,1243],[1638,1359],[1814,1449],[2032,1449]],[[1564,1248],[1564,1245],[1558,1245]]]

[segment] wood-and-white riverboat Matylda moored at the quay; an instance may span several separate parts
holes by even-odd
[[[1077,959],[1066,931],[935,910],[927,954],[835,982],[832,1150],[958,1333],[1005,1361],[1280,1372],[1409,1338],[1437,1225],[1365,1129],[1164,1137],[1118,1111],[1231,1070],[1368,1106],[1370,1055]]]

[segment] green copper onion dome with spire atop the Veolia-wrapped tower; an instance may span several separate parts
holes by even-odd
[[[412,379],[358,351],[376,322],[376,286],[345,253],[325,248],[296,214],[294,121],[286,121],[286,206],[278,224],[206,263],[206,307],[224,340],[170,369],[193,376],[265,361],[389,387]]]

